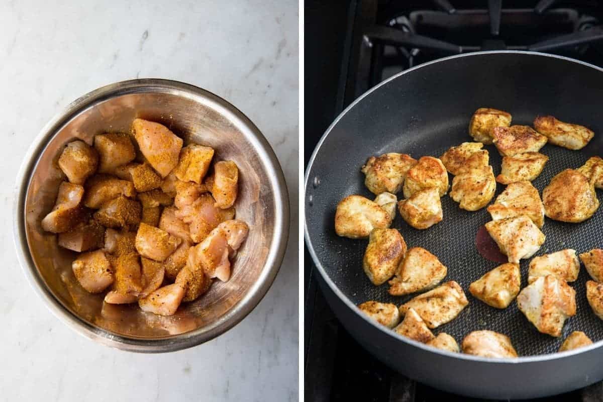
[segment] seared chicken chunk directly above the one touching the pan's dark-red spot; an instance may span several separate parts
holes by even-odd
[[[496,197],[494,204],[488,206],[488,212],[493,221],[525,215],[532,219],[538,228],[545,224],[545,207],[538,190],[529,181],[509,184]]]

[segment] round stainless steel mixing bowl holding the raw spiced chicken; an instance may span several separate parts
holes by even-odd
[[[174,316],[113,306],[84,291],[75,280],[75,253],[57,246],[40,220],[52,209],[62,172],[56,160],[74,139],[127,131],[131,121],[162,122],[185,143],[216,149],[218,159],[239,166],[236,216],[250,233],[234,263],[232,278],[182,304]],[[51,311],[80,334],[122,350],[157,353],[192,347],[215,338],[243,319],[273,283],[285,253],[289,200],[276,155],[241,111],[206,90],[168,80],[111,84],[77,99],[50,121],[31,145],[17,176],[14,241],[19,262]]]

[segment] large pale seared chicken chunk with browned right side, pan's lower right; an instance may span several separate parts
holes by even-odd
[[[538,277],[519,292],[517,307],[538,331],[559,337],[566,319],[576,314],[576,292],[554,275]]]

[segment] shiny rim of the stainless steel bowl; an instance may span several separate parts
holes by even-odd
[[[267,167],[272,182],[273,197],[275,204],[275,223],[272,244],[264,269],[260,277],[254,283],[247,294],[224,313],[218,320],[196,330],[170,336],[169,338],[137,338],[96,327],[84,319],[72,313],[63,306],[54,294],[46,287],[45,281],[39,274],[29,251],[26,235],[25,222],[25,200],[27,190],[30,186],[31,175],[39,162],[40,156],[54,136],[69,121],[79,115],[92,105],[106,101],[117,96],[142,92],[177,93],[203,99],[204,104],[224,115],[233,122],[239,130],[253,143],[262,163]],[[260,132],[259,128],[251,122],[247,116],[234,105],[212,92],[201,89],[192,84],[161,78],[138,78],[136,80],[119,81],[86,93],[75,99],[62,111],[58,112],[31,142],[30,148],[24,155],[24,159],[17,173],[13,197],[13,240],[17,252],[17,259],[22,271],[27,277],[30,286],[36,294],[42,298],[46,307],[64,324],[77,333],[109,347],[120,350],[139,353],[163,353],[194,347],[210,341],[216,336],[223,334],[230,328],[242,321],[251,310],[264,298],[265,294],[273,284],[276,274],[285,256],[285,250],[289,237],[289,196],[279,160],[274,154],[273,148],[268,140]]]

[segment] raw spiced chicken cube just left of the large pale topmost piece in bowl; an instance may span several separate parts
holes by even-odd
[[[99,155],[100,173],[110,173],[118,166],[132,162],[136,157],[130,136],[125,133],[98,134],[94,137],[94,148]]]

